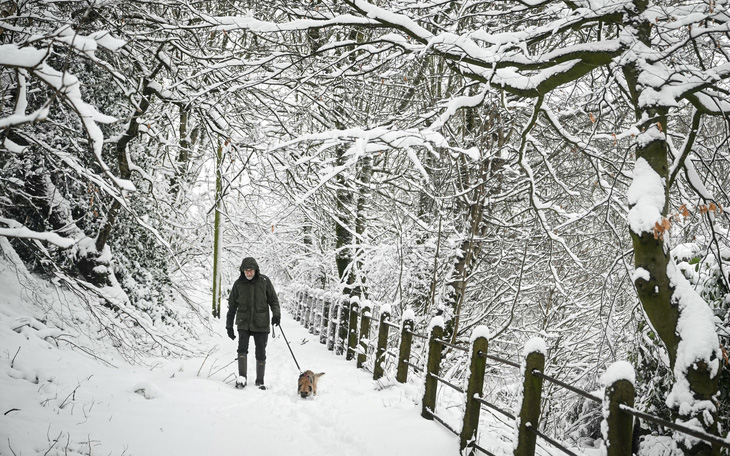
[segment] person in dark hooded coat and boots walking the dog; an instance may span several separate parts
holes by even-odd
[[[266,343],[269,340],[269,321],[271,325],[281,322],[279,298],[276,297],[271,280],[259,271],[256,260],[247,257],[241,262],[241,276],[233,284],[228,296],[228,314],[226,315],[226,331],[232,340],[236,338],[233,331],[235,321],[238,328],[238,379],[236,388],[243,388],[247,383],[248,343],[253,336],[256,345],[256,386],[264,386],[266,371]],[[270,311],[270,312],[269,312]]]

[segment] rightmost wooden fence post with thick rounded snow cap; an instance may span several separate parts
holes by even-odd
[[[631,456],[634,417],[621,411],[620,404],[634,406],[634,368],[626,361],[611,364],[603,374],[606,385],[601,423],[607,456]]]

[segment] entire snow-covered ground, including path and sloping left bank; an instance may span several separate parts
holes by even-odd
[[[312,399],[297,395],[299,369],[279,331],[269,339],[266,391],[233,387],[237,344],[220,320],[192,340],[197,356],[130,364],[114,348],[127,341],[100,330],[110,321],[94,314],[101,309],[29,274],[1,238],[0,247],[0,455],[459,454],[456,436],[421,418],[416,376],[374,382],[287,312],[282,327],[299,365],[325,372]],[[444,390],[437,412],[458,429],[463,398],[449,401],[453,390]],[[491,420],[479,444],[509,455],[511,436],[510,423]],[[642,454],[669,454],[665,442]],[[599,454],[593,445],[573,451]],[[538,443],[538,454],[561,453]]]

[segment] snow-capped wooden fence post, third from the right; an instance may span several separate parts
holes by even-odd
[[[481,353],[487,353],[489,348],[489,330],[486,326],[477,326],[471,336],[471,365],[469,367],[469,380],[466,387],[466,407],[464,410],[464,424],[461,427],[459,448],[464,450],[471,442],[476,441],[477,428],[479,427],[479,413],[482,404],[474,400],[481,398],[484,386],[484,371],[487,367],[487,359]],[[466,454],[473,455],[474,448]]]

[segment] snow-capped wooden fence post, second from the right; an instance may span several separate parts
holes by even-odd
[[[536,337],[525,344],[523,356],[525,358],[524,379],[522,383],[522,404],[518,410],[515,426],[517,427],[517,445],[515,456],[534,456],[537,434],[529,428],[538,430],[540,427],[540,401],[542,400],[542,378],[532,371],[545,370],[545,341]]]

